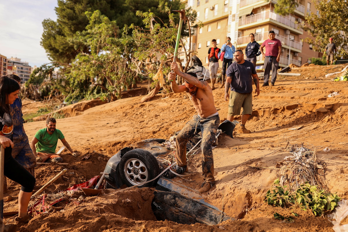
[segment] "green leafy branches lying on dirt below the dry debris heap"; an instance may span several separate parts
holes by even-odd
[[[276,185],[273,190],[267,191],[266,199],[268,204],[279,207],[290,207],[298,205],[302,210],[312,210],[315,216],[320,216],[326,211],[333,210],[338,206],[341,198],[325,190],[318,190],[316,186],[305,183],[290,193],[285,191],[286,186],[279,185],[279,178],[274,181]]]

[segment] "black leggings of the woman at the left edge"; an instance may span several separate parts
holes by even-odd
[[[12,156],[5,159],[3,174],[22,185],[23,192],[33,192],[35,186],[35,177],[30,174],[21,164],[19,164]]]

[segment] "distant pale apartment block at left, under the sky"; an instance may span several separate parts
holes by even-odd
[[[23,62],[17,57],[11,57],[7,59],[7,72],[17,75],[21,78],[21,83],[24,83],[30,78],[31,66],[28,62]]]

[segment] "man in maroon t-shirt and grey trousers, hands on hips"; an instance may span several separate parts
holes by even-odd
[[[277,69],[278,62],[280,59],[280,53],[282,52],[282,43],[279,39],[275,38],[274,31],[269,31],[268,39],[265,40],[260,46],[260,51],[264,59],[264,76],[263,76],[263,85],[268,86],[269,73],[272,69],[272,79],[271,86],[274,86],[274,83],[277,79]],[[263,48],[266,47],[266,54],[263,53]]]

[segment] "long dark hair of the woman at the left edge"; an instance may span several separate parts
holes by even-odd
[[[10,106],[6,104],[7,94],[19,90],[18,82],[6,76],[0,77],[0,111],[10,114]]]

